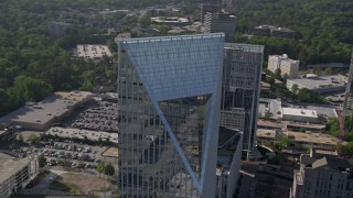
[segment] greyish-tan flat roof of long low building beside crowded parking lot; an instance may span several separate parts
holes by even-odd
[[[0,118],[0,123],[46,123],[55,117],[61,117],[68,111],[72,106],[75,106],[89,95],[92,94],[85,91],[54,92],[43,101],[38,103],[31,102]]]

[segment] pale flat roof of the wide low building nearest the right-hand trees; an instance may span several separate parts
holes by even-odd
[[[342,75],[333,76],[318,76],[318,77],[307,77],[307,78],[291,78],[287,80],[288,82],[297,84],[299,87],[306,87],[308,89],[317,89],[324,87],[339,87],[345,86],[347,78]]]

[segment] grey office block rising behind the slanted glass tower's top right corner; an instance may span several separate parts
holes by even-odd
[[[204,14],[204,33],[223,32],[227,43],[235,42],[235,24],[236,16],[225,12],[206,12]]]

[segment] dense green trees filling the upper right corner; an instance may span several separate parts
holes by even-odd
[[[353,45],[353,1],[350,0],[243,0],[237,1],[237,38],[246,40],[261,24],[289,28],[296,38],[253,36],[269,54],[288,54],[303,64],[349,63]]]

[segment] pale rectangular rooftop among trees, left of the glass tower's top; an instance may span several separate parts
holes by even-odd
[[[103,56],[111,56],[107,45],[77,45],[76,56],[84,58],[101,58]]]

